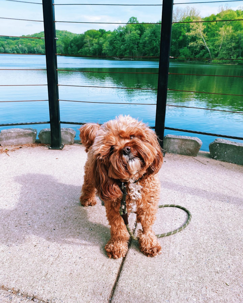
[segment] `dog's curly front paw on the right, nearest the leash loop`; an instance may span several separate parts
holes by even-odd
[[[144,234],[141,230],[139,230],[138,236],[139,248],[141,252],[145,254],[145,256],[154,257],[161,254],[161,245],[153,232]]]

